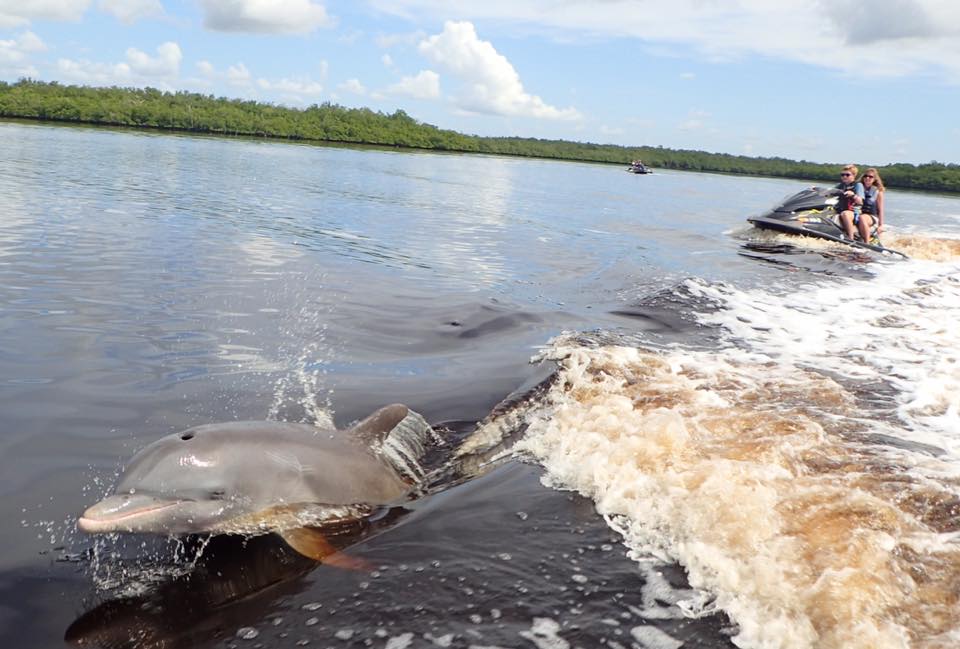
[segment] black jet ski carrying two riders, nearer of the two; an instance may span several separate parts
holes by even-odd
[[[839,198],[840,193],[836,189],[811,187],[786,197],[766,214],[751,217],[747,221],[763,230],[827,239],[854,248],[907,259],[902,252],[885,248],[875,233],[868,243],[860,239],[848,239],[840,227],[840,217],[835,209]]]

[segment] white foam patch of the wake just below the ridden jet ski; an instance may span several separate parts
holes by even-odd
[[[960,242],[958,242],[960,244]],[[876,265],[876,277],[795,286],[789,294],[691,280],[722,308],[700,316],[733,345],[896,393],[900,424],[877,432],[960,459],[960,263]]]

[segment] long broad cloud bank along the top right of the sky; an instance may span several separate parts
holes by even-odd
[[[447,0],[376,2],[398,15],[444,18]],[[563,32],[692,47],[708,60],[762,56],[868,75],[932,70],[960,80],[955,0],[460,0],[456,15]]]

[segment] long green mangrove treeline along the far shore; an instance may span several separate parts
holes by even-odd
[[[402,110],[384,114],[367,108],[344,108],[329,103],[297,109],[191,92],[171,93],[153,88],[90,88],[31,79],[22,79],[13,84],[0,82],[0,117],[617,164],[642,159],[655,168],[807,178],[826,182],[835,182],[839,169],[838,164],[798,162],[785,158],[464,135],[420,122]],[[931,162],[879,168],[889,187],[960,192],[960,165],[957,164]]]

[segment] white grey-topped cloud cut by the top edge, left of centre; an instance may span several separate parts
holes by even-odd
[[[223,32],[305,34],[333,21],[311,0],[200,0],[203,24]]]

